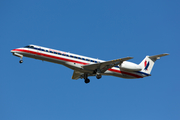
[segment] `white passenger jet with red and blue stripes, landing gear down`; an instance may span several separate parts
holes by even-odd
[[[96,76],[97,79],[100,79],[102,75],[126,79],[148,77],[151,76],[150,73],[154,66],[154,62],[157,59],[160,59],[160,57],[169,55],[164,53],[154,56],[146,56],[140,64],[135,64],[127,61],[133,57],[104,61],[33,44],[13,49],[11,50],[11,53],[14,56],[20,57],[19,63],[23,63],[23,57],[29,57],[64,65],[74,70],[72,75],[73,80],[84,78],[85,83],[90,82],[90,79],[88,78],[89,76]]]

